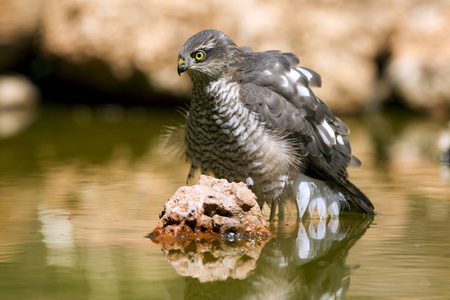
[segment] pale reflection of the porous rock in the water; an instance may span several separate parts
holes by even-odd
[[[267,241],[194,240],[186,248],[169,246],[163,247],[163,251],[181,276],[191,276],[200,282],[244,279],[256,268],[256,260]]]

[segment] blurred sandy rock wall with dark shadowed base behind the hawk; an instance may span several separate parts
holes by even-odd
[[[0,75],[25,74],[58,101],[90,101],[78,94],[90,91],[179,105],[190,82],[176,73],[178,50],[207,28],[298,54],[336,113],[400,103],[449,115],[448,0],[0,0]]]

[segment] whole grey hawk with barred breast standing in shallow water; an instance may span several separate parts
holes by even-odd
[[[178,73],[193,83],[184,132],[186,157],[196,169],[244,181],[260,205],[293,194],[300,217],[344,208],[373,214],[369,199],[347,179],[351,155],[347,126],[317,98],[320,76],[297,66],[292,53],[251,52],[217,30],[181,47]]]

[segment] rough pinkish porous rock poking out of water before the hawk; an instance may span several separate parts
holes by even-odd
[[[244,183],[201,176],[166,202],[152,240],[172,243],[192,238],[270,237],[256,196]]]

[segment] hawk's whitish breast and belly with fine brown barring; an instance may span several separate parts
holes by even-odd
[[[260,205],[283,193],[295,169],[289,141],[245,108],[239,85],[227,79],[194,85],[185,137],[191,178],[201,169],[203,174],[246,182]]]

